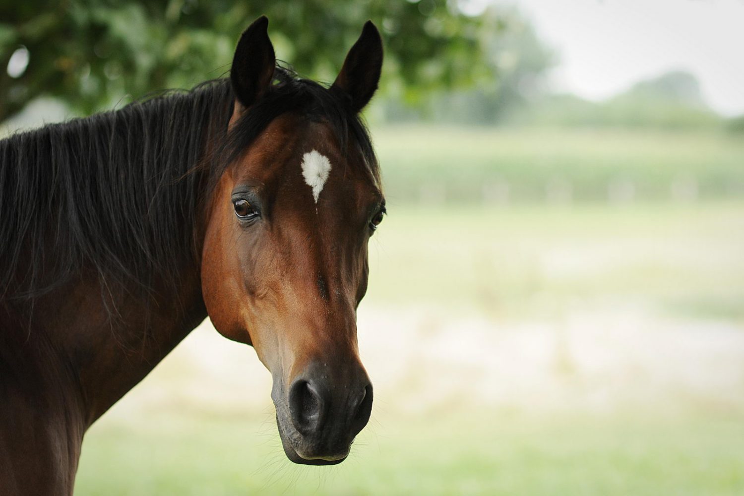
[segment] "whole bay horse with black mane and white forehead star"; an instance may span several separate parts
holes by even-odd
[[[86,430],[207,316],[272,373],[292,462],[340,463],[368,422],[382,40],[367,22],[326,87],[267,26],[228,78],[0,141],[2,495],[71,494]]]

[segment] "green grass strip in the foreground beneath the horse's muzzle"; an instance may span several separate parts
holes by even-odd
[[[175,426],[173,425],[175,424]],[[341,466],[283,459],[256,419],[150,419],[94,428],[77,495],[737,495],[740,418],[398,416]],[[274,434],[274,438],[276,435]]]

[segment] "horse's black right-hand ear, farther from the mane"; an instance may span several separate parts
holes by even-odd
[[[382,38],[371,21],[365,22],[362,35],[344,60],[344,66],[331,86],[351,98],[354,112],[362,110],[372,98],[382,71]]]

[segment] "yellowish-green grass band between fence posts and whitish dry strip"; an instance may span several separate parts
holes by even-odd
[[[388,211],[369,300],[523,315],[547,296],[744,317],[744,202]]]

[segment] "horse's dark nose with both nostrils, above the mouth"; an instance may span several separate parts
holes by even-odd
[[[310,372],[295,379],[288,403],[289,418],[297,431],[306,437],[325,437],[324,431],[347,431],[351,437],[359,434],[372,412],[372,384],[363,371],[354,376],[333,381],[327,373]]]

